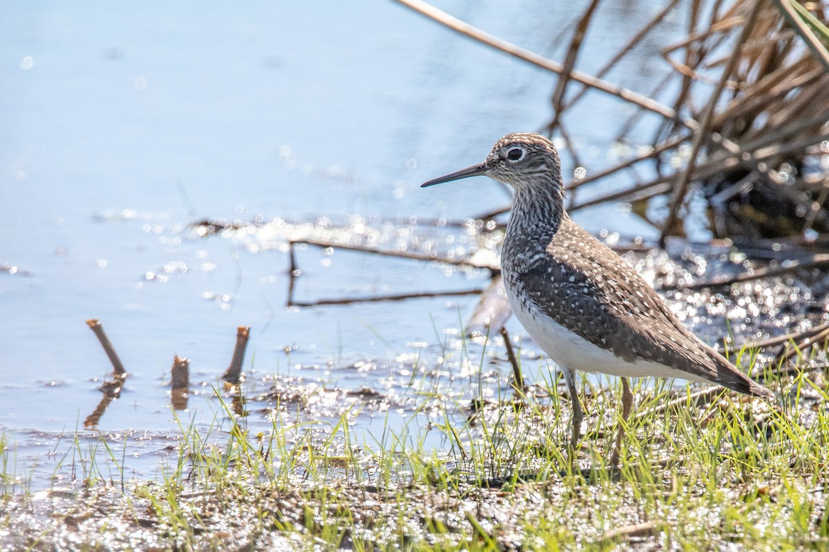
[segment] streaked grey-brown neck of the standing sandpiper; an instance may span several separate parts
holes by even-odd
[[[567,216],[562,187],[516,188],[502,248],[502,267],[529,267],[537,258],[545,257],[547,245]]]

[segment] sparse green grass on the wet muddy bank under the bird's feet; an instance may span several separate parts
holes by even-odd
[[[571,463],[569,401],[545,364],[534,367],[541,386],[529,396],[499,396],[464,419],[450,411],[465,404],[426,393],[405,425],[378,435],[355,432],[353,412],[331,423],[274,415],[252,434],[220,398],[216,419],[230,427],[180,420],[177,454],[153,482],[124,478],[126,444],[76,437],[65,461],[86,492],[46,524],[21,524],[37,502],[16,502],[25,484],[6,475],[2,526],[25,527],[14,542],[33,550],[68,546],[69,534],[81,550],[829,548],[826,368],[767,374],[779,408],[726,393],[696,405],[667,382],[636,382],[615,470],[618,382],[584,384],[587,434]],[[421,427],[435,404],[443,419]],[[429,432],[447,446],[429,449]]]

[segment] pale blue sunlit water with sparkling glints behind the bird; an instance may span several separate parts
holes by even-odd
[[[556,59],[566,41],[553,43],[550,29],[572,17],[548,2],[521,2],[509,17],[501,2],[441,7]],[[622,44],[641,21],[620,2],[596,27]],[[601,65],[606,47],[584,51],[584,70]],[[485,179],[419,183],[481,161],[507,132],[541,128],[552,75],[393,2],[6,2],[0,60],[0,426],[17,471],[36,486],[70,477],[75,431],[85,446],[97,439],[83,421],[111,367],[91,318],[129,372],[98,430],[124,449],[130,474],[157,473],[175,443],[174,355],[190,359],[194,391],[178,415],[226,425],[216,391],[230,403],[218,377],[237,326],[251,327],[253,430],[268,430],[274,415],[333,423],[358,405],[358,428],[382,431],[405,424],[424,394],[449,408],[480,391],[507,393],[502,348],[463,338],[477,298],[288,308],[287,241],[477,250],[477,233],[421,222],[501,207],[505,191]],[[611,79],[635,87],[657,66],[642,51]],[[596,170],[613,161],[625,115],[597,96],[570,119]],[[593,232],[652,237],[615,206],[576,218]],[[191,225],[202,219],[255,224],[204,237]],[[492,256],[495,244],[485,245]],[[300,247],[297,262],[297,300],[488,282],[487,271],[317,247]],[[530,363],[530,377],[544,377],[545,362]],[[382,400],[366,399],[371,392]],[[414,425],[439,415],[427,409]]]

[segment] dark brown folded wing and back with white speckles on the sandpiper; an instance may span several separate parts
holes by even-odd
[[[547,253],[546,262],[536,263],[517,278],[541,312],[628,362],[658,362],[726,384],[718,369],[725,368],[717,366],[719,362],[642,276],[569,217],[562,220]],[[730,370],[737,372],[734,367]],[[743,382],[736,390],[750,392],[748,386]]]

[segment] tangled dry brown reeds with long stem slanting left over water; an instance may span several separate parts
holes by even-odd
[[[717,237],[744,242],[747,238],[755,247],[763,247],[762,238],[780,242],[784,237],[790,245],[829,244],[829,28],[822,3],[691,0],[687,35],[662,49],[665,72],[654,79],[651,94],[642,94],[603,77],[612,74],[632,50],[652,43],[652,34],[665,24],[667,15],[679,13],[678,0],[634,32],[595,75],[577,70],[576,65],[584,44],[593,36],[603,39],[600,32],[589,33],[601,12],[601,0],[590,2],[572,23],[563,63],[502,41],[422,0],[398,2],[559,74],[551,98],[555,115],[546,129],[566,142],[575,166],[584,164],[570,147],[567,114],[592,94],[612,94],[636,108],[618,136],[620,141],[642,144],[638,120],[646,114],[662,118],[647,151],[602,170],[587,167],[586,178],[567,183],[570,211],[610,201],[629,202],[636,213],[657,225],[664,242],[669,235],[683,233],[686,205],[700,187]],[[630,9],[644,11],[641,6]],[[666,90],[671,98],[662,97]],[[667,162],[676,158],[682,160],[678,167]],[[586,200],[574,193],[580,186],[620,176],[642,161],[655,161],[656,175],[650,180],[614,186],[612,192]],[[667,209],[657,219],[649,219],[647,201],[657,196],[668,198]]]

